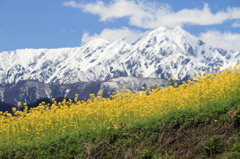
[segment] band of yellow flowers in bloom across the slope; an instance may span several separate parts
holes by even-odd
[[[127,88],[109,98],[90,95],[87,101],[63,100],[53,104],[41,103],[24,111],[13,109],[14,114],[0,112],[1,145],[29,144],[46,138],[86,129],[118,129],[122,124],[160,116],[171,110],[201,107],[213,101],[224,101],[240,94],[240,63],[218,73],[204,72],[193,80],[133,94]],[[218,68],[220,70],[220,68]],[[201,74],[201,72],[199,73]]]

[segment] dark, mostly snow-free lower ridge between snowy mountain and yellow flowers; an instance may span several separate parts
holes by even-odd
[[[146,88],[156,88],[158,83],[163,87],[167,86],[166,80],[154,78],[136,78],[136,77],[119,77],[99,82],[77,82],[74,84],[50,85],[34,80],[24,80],[17,83],[0,86],[1,101],[11,104],[17,102],[31,103],[39,98],[74,98],[79,94],[79,100],[87,100],[89,94],[97,94],[103,90],[103,97],[109,97],[112,92],[120,91],[127,87],[133,92],[143,91]]]

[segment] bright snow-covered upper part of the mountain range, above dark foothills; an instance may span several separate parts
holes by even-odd
[[[114,35],[113,35],[114,36]],[[82,47],[22,49],[0,53],[0,83],[34,79],[50,84],[104,81],[118,76],[177,78],[226,69],[240,52],[208,45],[180,27],[159,27],[116,41],[97,39]]]

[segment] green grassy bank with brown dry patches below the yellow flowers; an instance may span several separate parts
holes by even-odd
[[[121,126],[0,146],[0,158],[240,158],[240,98]]]

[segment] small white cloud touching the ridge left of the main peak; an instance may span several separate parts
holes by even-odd
[[[139,34],[141,31],[122,27],[121,29],[104,29],[100,34],[89,35],[85,32],[82,36],[82,44],[85,44],[94,39],[106,39],[106,40],[117,40],[126,36]]]

